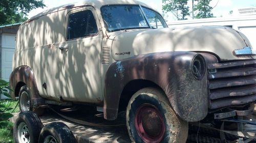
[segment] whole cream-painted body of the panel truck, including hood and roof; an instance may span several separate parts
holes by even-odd
[[[30,66],[42,97],[78,102],[103,102],[105,73],[111,63],[137,54],[161,51],[210,51],[222,60],[238,60],[234,49],[245,47],[241,36],[223,27],[196,27],[161,30],[127,30],[106,32],[100,7],[108,4],[141,4],[137,1],[84,1],[73,9],[59,8],[42,12],[20,26],[14,52],[13,69]],[[91,5],[92,7],[82,7]],[[67,15],[84,9],[94,11],[99,34],[67,41]],[[108,36],[106,36],[106,34]],[[109,38],[107,38],[109,37]],[[109,64],[101,64],[101,47],[112,46]],[[68,47],[59,50],[58,47]],[[116,55],[130,51],[130,55]],[[47,90],[42,84],[47,83]]]

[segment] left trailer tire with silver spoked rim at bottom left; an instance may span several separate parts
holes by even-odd
[[[14,141],[16,143],[38,142],[38,136],[43,126],[36,113],[32,111],[20,112],[13,126]]]

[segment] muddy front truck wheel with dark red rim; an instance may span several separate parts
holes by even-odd
[[[188,123],[176,115],[165,93],[157,88],[144,88],[132,96],[126,126],[132,142],[186,142],[188,134]]]

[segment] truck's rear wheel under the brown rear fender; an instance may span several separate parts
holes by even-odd
[[[18,103],[19,103],[19,109],[21,112],[33,111],[40,116],[45,111],[44,108],[40,108],[40,107],[35,108],[33,106],[33,102],[31,100],[31,93],[27,85],[24,85],[22,88],[20,88]]]

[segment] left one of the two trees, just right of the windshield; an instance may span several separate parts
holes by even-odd
[[[162,0],[163,12],[172,12],[178,20],[184,20],[189,15],[188,0]]]

